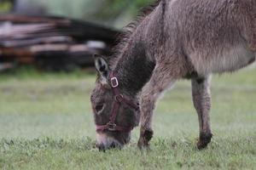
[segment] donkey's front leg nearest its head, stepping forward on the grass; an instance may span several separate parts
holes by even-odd
[[[158,65],[154,69],[149,82],[143,88],[141,97],[141,131],[140,139],[138,140],[139,148],[148,148],[149,141],[153,137],[151,122],[156,100],[176,80],[177,78],[172,75],[172,71],[166,71],[164,66],[160,67]]]

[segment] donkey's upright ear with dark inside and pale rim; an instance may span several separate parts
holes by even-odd
[[[107,60],[104,59],[103,56],[97,55],[97,54],[94,55],[94,59],[95,59],[96,70],[98,71],[98,73],[101,75],[102,78],[107,79],[108,73],[109,73]]]

